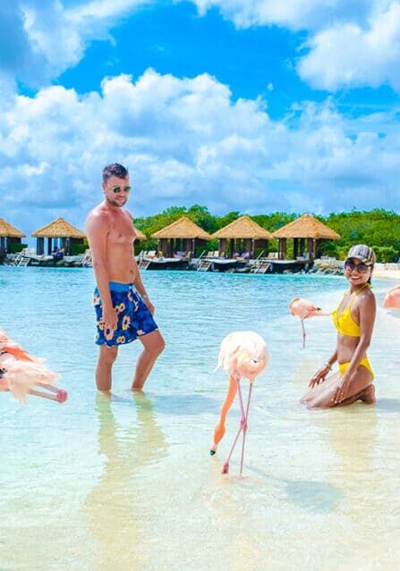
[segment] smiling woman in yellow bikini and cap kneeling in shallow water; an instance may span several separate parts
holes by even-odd
[[[376,262],[375,252],[359,244],[350,248],[345,260],[345,278],[350,290],[332,313],[337,330],[333,355],[311,379],[302,402],[309,408],[351,405],[356,400],[375,403],[374,374],[366,350],[370,346],[376,314],[370,276]],[[337,361],[339,371],[325,380]]]

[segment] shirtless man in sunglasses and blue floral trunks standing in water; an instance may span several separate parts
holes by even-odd
[[[139,338],[143,351],[136,364],[132,390],[141,390],[165,342],[153,319],[154,306],[133,255],[136,232],[132,215],[123,209],[131,190],[127,169],[121,164],[108,164],[103,169],[102,187],[105,199],[86,220],[98,284],[93,300],[99,345],[96,382],[98,390],[111,389],[118,347]]]

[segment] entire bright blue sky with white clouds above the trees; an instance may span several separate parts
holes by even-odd
[[[15,0],[0,216],[82,228],[114,161],[138,216],[399,211],[399,91],[397,1]]]

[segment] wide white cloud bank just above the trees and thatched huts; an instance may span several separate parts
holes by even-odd
[[[261,99],[233,102],[207,74],[148,70],[15,97],[0,122],[0,216],[26,231],[57,215],[82,226],[100,172],[127,164],[135,214],[206,204],[213,212],[400,208],[400,136],[385,114],[346,120],[328,100],[272,121]]]

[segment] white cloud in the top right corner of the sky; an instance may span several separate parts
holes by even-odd
[[[304,30],[308,38],[297,69],[312,87],[385,83],[400,91],[398,0],[193,0],[200,14],[211,7],[238,28],[276,25]]]

